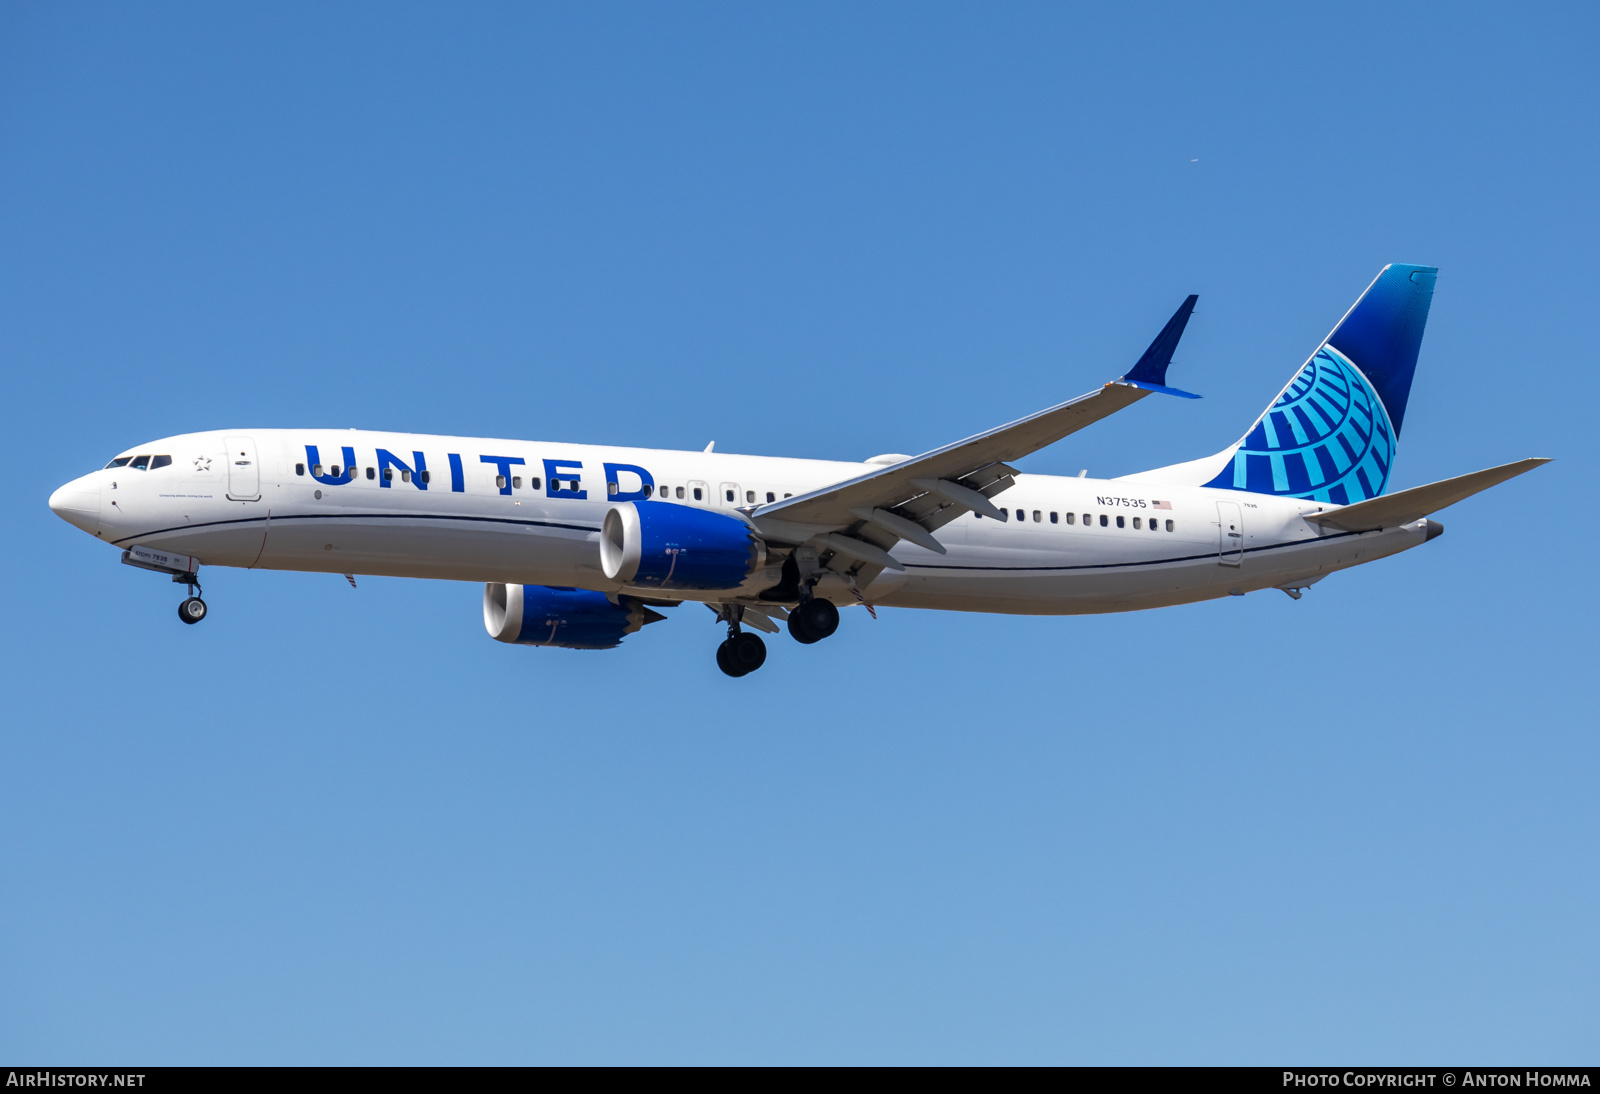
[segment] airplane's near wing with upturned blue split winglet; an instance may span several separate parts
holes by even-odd
[[[888,555],[901,539],[944,553],[933,533],[962,513],[1000,518],[989,499],[1010,488],[1018,473],[1006,461],[1053,445],[1150,392],[1198,398],[1166,387],[1166,366],[1197,299],[1186,299],[1144,357],[1098,392],[882,470],[760,505],[750,510],[750,520],[768,539],[790,544],[818,539],[821,547],[869,566],[902,569]]]

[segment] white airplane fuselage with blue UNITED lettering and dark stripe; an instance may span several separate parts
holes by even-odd
[[[355,477],[344,481],[347,449]],[[600,525],[616,499],[642,496],[638,470],[648,473],[654,501],[730,515],[872,470],[813,459],[317,429],[186,433],[128,454],[171,462],[98,470],[58,493],[70,502],[58,512],[117,547],[194,555],[206,566],[602,592],[622,587],[602,573]],[[608,464],[618,470],[608,473]],[[550,488],[552,472],[560,489]],[[1021,475],[994,504],[1008,520],[966,513],[936,531],[946,555],[901,542],[891,553],[906,571],[885,569],[864,595],[877,605],[954,611],[1133,611],[1298,589],[1427,539],[1427,521],[1338,533],[1301,518],[1328,509],[1317,502],[1136,478]],[[840,579],[818,592],[853,603]]]

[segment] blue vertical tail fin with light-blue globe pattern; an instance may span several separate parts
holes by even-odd
[[[1206,486],[1347,505],[1389,483],[1432,266],[1386,266]]]

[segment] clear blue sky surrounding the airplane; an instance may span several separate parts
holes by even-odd
[[[1594,5],[6,5],[0,1057],[1573,1062],[1600,1041]],[[864,459],[1235,440],[1440,267],[1397,461],[1557,462],[1330,577],[846,613],[744,680],[464,584],[56,520],[141,440]]]

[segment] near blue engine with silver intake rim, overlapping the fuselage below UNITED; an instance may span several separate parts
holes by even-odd
[[[646,589],[734,589],[766,561],[738,517],[672,502],[622,502],[600,526],[600,569]]]

